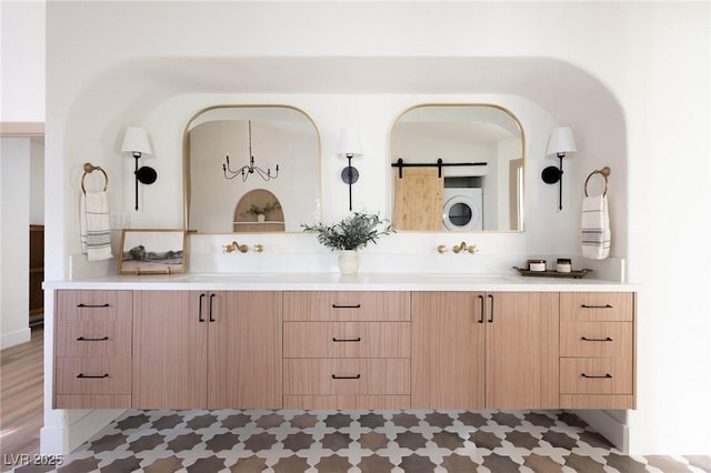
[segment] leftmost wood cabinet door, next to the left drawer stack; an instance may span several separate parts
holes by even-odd
[[[133,407],[207,405],[206,298],[194,291],[134,292]]]

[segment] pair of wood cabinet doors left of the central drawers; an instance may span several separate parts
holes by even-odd
[[[137,291],[134,409],[281,407],[281,298]]]

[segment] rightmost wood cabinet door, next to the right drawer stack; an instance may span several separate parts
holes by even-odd
[[[559,295],[487,294],[487,409],[558,407]]]

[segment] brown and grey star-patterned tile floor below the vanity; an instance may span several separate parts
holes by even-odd
[[[16,472],[709,472],[625,456],[562,411],[127,411],[58,470]]]

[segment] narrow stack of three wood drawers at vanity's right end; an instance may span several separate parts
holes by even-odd
[[[629,292],[560,294],[561,409],[634,409],[634,305]]]

